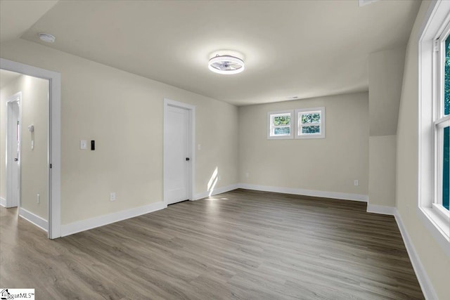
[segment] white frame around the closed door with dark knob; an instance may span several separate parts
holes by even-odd
[[[189,105],[186,103],[181,103],[178,101],[170,100],[165,98],[164,99],[164,129],[163,129],[163,179],[162,179],[162,185],[163,185],[163,201],[167,205],[167,155],[166,155],[166,149],[169,147],[167,143],[166,138],[166,131],[167,131],[167,107],[179,107],[183,108],[188,111],[189,115],[189,136],[188,136],[188,143],[189,143],[189,150],[190,150],[190,158],[191,158],[191,164],[189,164],[189,174],[190,178],[188,180],[188,187],[189,187],[189,200],[195,200],[194,199],[194,193],[195,193],[195,106]]]

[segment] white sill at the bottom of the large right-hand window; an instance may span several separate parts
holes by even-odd
[[[418,215],[445,254],[450,257],[450,221],[448,216],[430,207],[418,207]]]

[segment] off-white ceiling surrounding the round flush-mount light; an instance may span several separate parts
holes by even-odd
[[[404,46],[419,6],[409,0],[362,7],[357,0],[59,1],[22,38],[248,105],[367,91],[368,54]],[[56,42],[40,41],[39,32]],[[210,55],[222,49],[242,53],[245,71],[210,72]]]

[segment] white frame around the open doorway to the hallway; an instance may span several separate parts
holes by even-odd
[[[49,80],[49,238],[61,236],[61,74],[0,58],[0,69]]]

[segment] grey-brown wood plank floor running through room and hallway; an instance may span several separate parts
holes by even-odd
[[[0,209],[0,286],[40,299],[424,299],[392,216],[234,190],[57,240]]]

